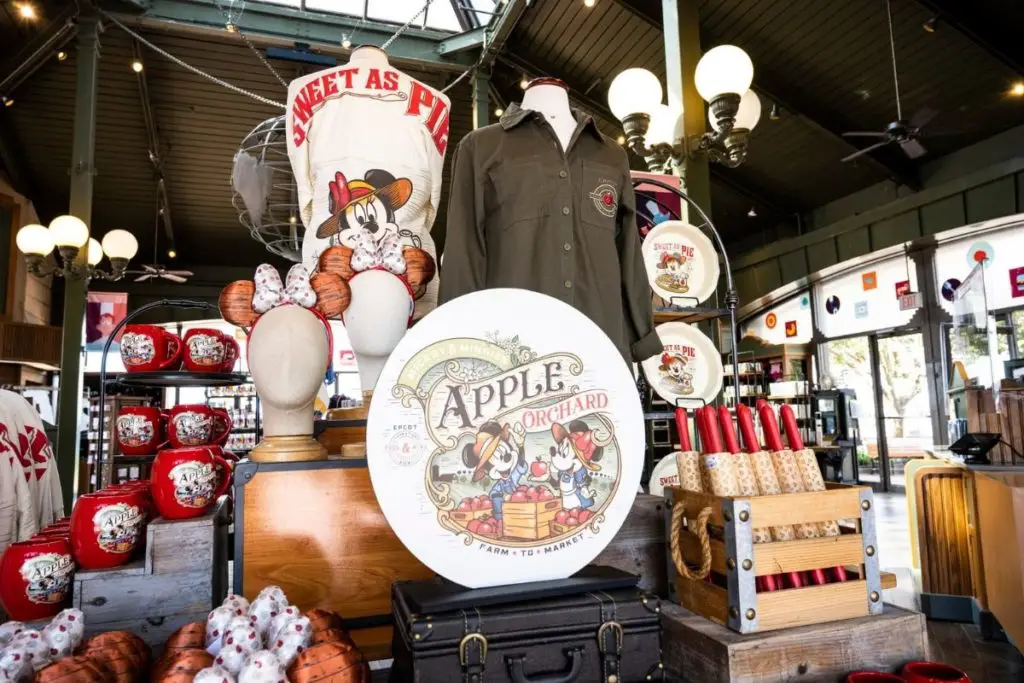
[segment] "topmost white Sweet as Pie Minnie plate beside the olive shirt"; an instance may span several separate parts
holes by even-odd
[[[718,252],[699,228],[667,220],[647,233],[643,261],[651,289],[670,305],[702,303],[718,287]]]

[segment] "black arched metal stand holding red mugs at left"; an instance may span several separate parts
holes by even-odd
[[[187,371],[180,372],[159,372],[159,373],[124,373],[117,378],[108,380],[106,378],[106,355],[111,351],[111,345],[114,340],[117,339],[118,334],[131,323],[133,319],[137,318],[143,313],[147,313],[151,310],[156,310],[158,308],[177,308],[179,310],[209,310],[213,311],[220,316],[220,308],[212,303],[206,301],[199,301],[197,299],[160,299],[159,301],[153,301],[145,304],[144,306],[139,306],[135,310],[131,311],[118,323],[117,327],[114,328],[110,336],[106,338],[106,342],[103,344],[103,351],[99,359],[99,415],[98,423],[103,424],[103,414],[106,409],[106,391],[108,389],[116,390],[119,387],[211,387],[211,386],[237,386],[240,384],[245,384],[249,381],[249,378],[241,373],[190,373]],[[117,483],[118,479],[118,468],[115,464],[118,462],[112,453],[103,452],[103,430],[99,430],[97,436],[96,444],[96,467],[95,474],[90,481],[90,487],[92,489],[101,488],[106,484]],[[114,430],[111,430],[111,438],[114,437]],[[119,457],[120,458],[120,457]],[[132,463],[136,464],[147,464],[156,458],[156,455],[152,456],[136,456],[132,459]]]

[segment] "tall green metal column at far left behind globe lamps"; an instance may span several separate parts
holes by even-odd
[[[85,11],[78,19],[78,76],[75,89],[75,138],[72,147],[72,215],[92,220],[92,177],[96,142],[96,81],[99,76],[99,17]],[[83,247],[79,260],[85,262]],[[85,319],[84,280],[65,282],[63,335],[60,348],[60,394],[57,399],[57,471],[65,510],[71,511],[78,485],[79,420],[82,415],[82,325]],[[100,426],[102,428],[102,426]],[[82,492],[84,493],[84,492]]]

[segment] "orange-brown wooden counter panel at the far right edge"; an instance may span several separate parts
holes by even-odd
[[[1024,643],[1024,473],[977,473],[975,487],[988,609]]]

